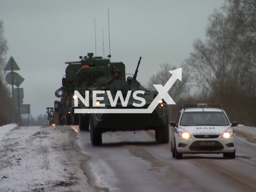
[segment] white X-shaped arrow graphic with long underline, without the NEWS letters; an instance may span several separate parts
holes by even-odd
[[[153,100],[153,102],[148,106],[147,109],[74,109],[74,113],[152,113],[155,108],[159,104],[159,100],[164,99],[167,104],[169,105],[175,105],[176,103],[171,98],[171,96],[168,94],[168,91],[173,86],[173,84],[176,82],[177,79],[182,81],[182,68],[178,68],[176,70],[169,71],[172,76],[170,79],[166,82],[164,86],[162,85],[154,85],[156,90],[158,91],[158,95]]]

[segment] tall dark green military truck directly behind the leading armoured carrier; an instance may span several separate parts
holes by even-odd
[[[73,78],[73,85],[74,89],[72,92],[70,92],[70,95],[74,96],[72,100],[74,101],[77,99],[77,96],[74,95],[74,90],[78,91],[83,98],[85,98],[85,91],[86,90],[93,90],[94,87],[98,87],[99,82],[102,83],[106,82],[108,78],[110,78],[112,71],[114,68],[118,68],[125,78],[125,66],[122,62],[111,62],[110,63],[110,57],[111,55],[108,55],[108,58],[102,58],[102,57],[93,57],[93,53],[88,53],[88,57],[80,56],[81,61],[79,62],[66,62],[70,65],[77,64],[79,65],[79,69],[74,74]],[[100,84],[102,85],[102,84]],[[90,103],[92,104],[92,98],[90,98]],[[74,109],[86,109],[89,108],[87,106],[84,106],[82,102],[78,100],[78,106],[75,107],[73,105],[73,108],[70,109],[72,116],[78,116],[78,124],[79,129],[82,131],[88,131],[89,130],[89,120],[90,120],[90,114],[88,113],[80,113],[80,114],[74,114]]]

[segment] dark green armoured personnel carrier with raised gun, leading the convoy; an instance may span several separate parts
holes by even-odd
[[[141,59],[141,58],[140,58]],[[138,66],[140,61],[138,62]],[[96,100],[98,106],[91,107],[94,109],[147,109],[158,95],[157,91],[150,91],[144,88],[137,80],[138,66],[133,77],[128,77],[126,81],[115,80],[106,88],[106,80],[99,78],[96,82],[94,90],[104,90],[104,94],[97,94],[103,100]],[[105,82],[104,82],[105,81]],[[140,99],[133,98],[133,93],[137,90],[143,91],[144,94],[137,94],[138,97],[144,98],[146,104],[141,107],[133,106],[134,103],[141,104]],[[107,92],[110,91],[112,100],[116,98],[118,91],[121,91],[124,100],[126,96],[130,98],[127,106],[122,106],[120,98],[116,102],[116,106],[111,106]],[[105,104],[105,106],[99,106]],[[96,104],[97,105],[97,104]],[[136,130],[155,130],[155,138],[159,143],[169,142],[169,122],[170,122],[170,106],[164,100],[156,103],[156,108],[152,113],[91,113],[90,114],[90,138],[92,145],[99,146],[102,144],[102,133],[115,131],[136,131]],[[90,105],[92,106],[92,105]]]

